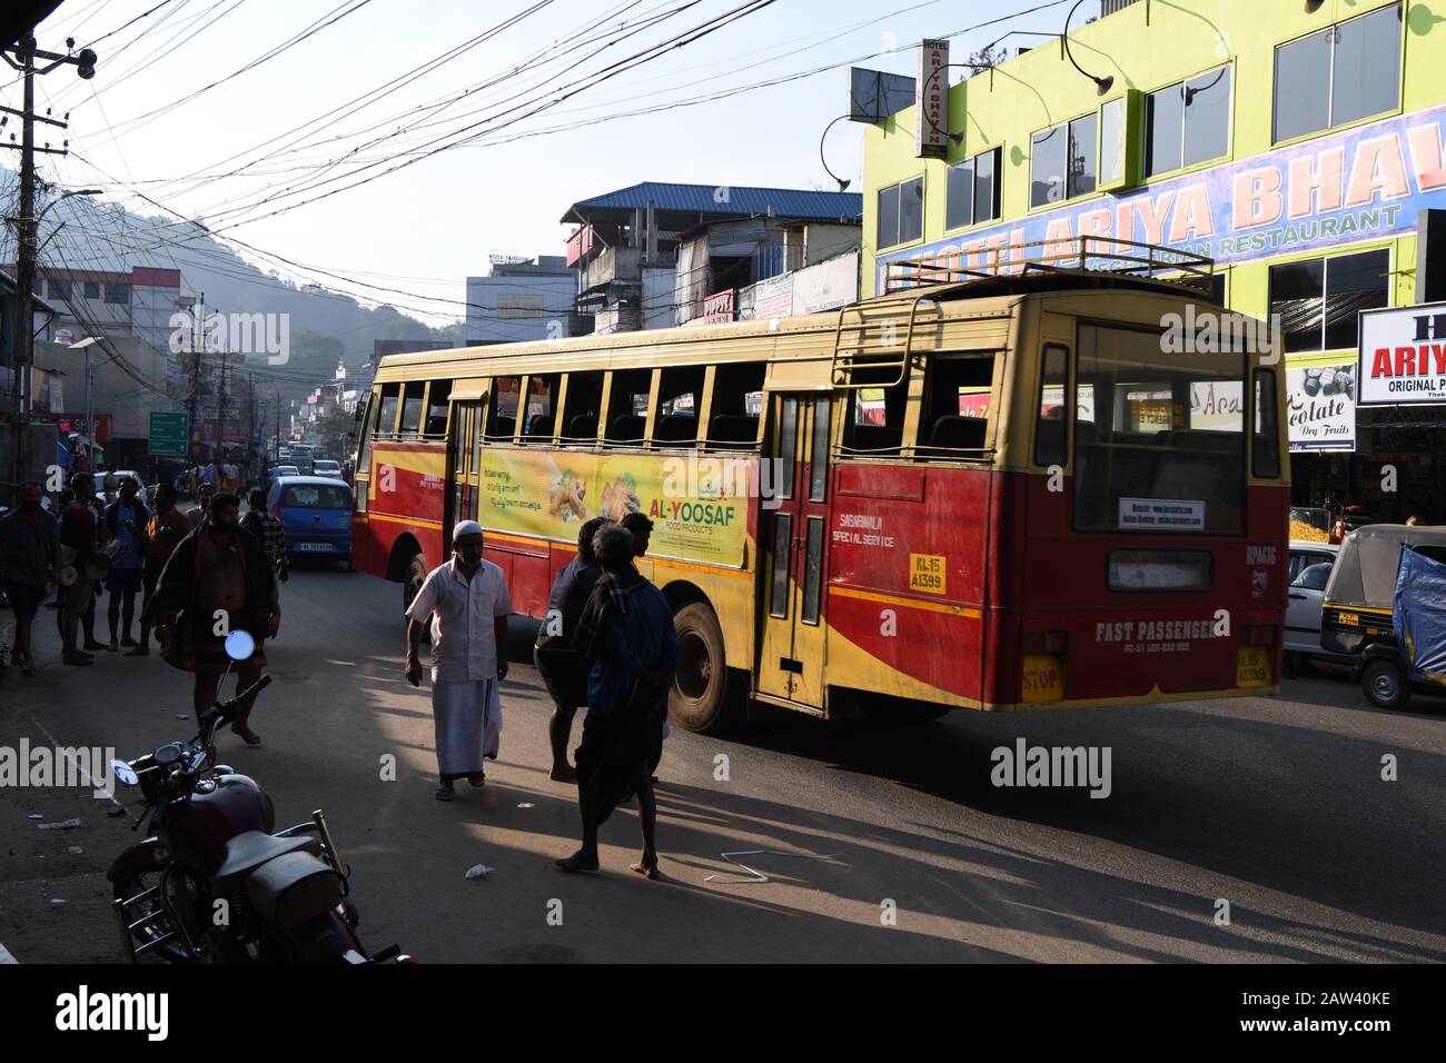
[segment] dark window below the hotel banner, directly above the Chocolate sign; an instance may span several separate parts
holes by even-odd
[[[1356,346],[1356,315],[1390,305],[1385,249],[1270,268],[1270,312],[1280,315],[1285,351]]]

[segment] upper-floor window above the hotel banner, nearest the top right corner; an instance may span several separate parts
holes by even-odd
[[[1291,140],[1397,108],[1401,4],[1275,48],[1274,139]]]

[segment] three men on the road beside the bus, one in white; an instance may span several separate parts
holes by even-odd
[[[667,599],[633,564],[646,554],[651,531],[642,513],[586,521],[577,557],[558,573],[538,631],[535,659],[555,703],[551,778],[577,784],[583,819],[583,845],[557,862],[562,871],[597,869],[599,826],[636,795],[643,848],[632,869],[658,876],[652,772],[662,756],[678,642]],[[406,610],[405,677],[412,686],[421,683],[418,651],[429,623],[440,801],[455,800],[457,780],[486,785],[484,762],[497,756],[512,600],[502,568],[482,551],[482,526],[460,522],[451,560],[427,576]],[[583,706],[574,768],[567,745]]]

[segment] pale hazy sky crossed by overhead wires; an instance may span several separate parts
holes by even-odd
[[[912,45],[921,36],[966,30],[1043,0],[775,0],[593,87],[584,85],[610,64],[743,0],[171,0],[121,29],[158,3],[67,0],[39,27],[40,48],[64,51],[74,35],[77,46],[94,42],[100,55],[93,81],[68,67],[36,81],[42,110],[71,113],[68,132],[42,139],[58,145],[68,136],[74,152],[94,163],[43,156],[48,179],[98,187],[127,207],[156,213],[136,189],[308,268],[460,302],[464,278],[484,273],[489,255],[561,253],[567,227],[558,218],[567,207],[615,188],[639,181],[831,188],[818,136],[844,111],[850,61],[912,74]],[[1084,0],[1076,17],[1098,14],[1098,7]],[[1067,12],[1060,0],[966,32],[953,39],[956,55],[1008,29],[1058,30]],[[276,58],[188,98],[337,16]],[[385,98],[367,98],[513,17]],[[633,35],[616,39],[619,23]],[[836,64],[720,100],[609,120]],[[956,81],[960,71],[950,74]],[[13,80],[0,85],[0,101],[20,104]],[[362,106],[353,110],[356,103]],[[526,116],[548,103],[554,106]],[[444,107],[429,110],[435,104]],[[508,121],[513,124],[503,127]],[[576,127],[519,137],[555,126]],[[424,158],[463,136],[480,142]],[[859,191],[860,127],[834,126],[826,152]],[[376,179],[347,188],[370,176]],[[327,192],[334,194],[301,202]],[[93,205],[103,208],[104,200]],[[158,236],[133,239],[166,265]],[[461,312],[445,302],[369,294],[309,269],[291,276],[399,307],[429,307],[441,317]]]

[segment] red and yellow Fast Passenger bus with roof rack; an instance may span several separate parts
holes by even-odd
[[[642,511],[683,644],[671,710],[704,732],[758,703],[1275,693],[1278,349],[1223,350],[1242,321],[1197,269],[1092,265],[920,266],[834,314],[385,357],[356,564],[409,600],[474,518],[541,618],[578,524]]]

